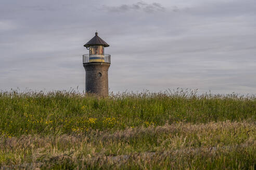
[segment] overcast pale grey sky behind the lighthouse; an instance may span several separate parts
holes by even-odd
[[[255,0],[0,0],[0,90],[83,91],[96,30],[110,91],[256,94]]]

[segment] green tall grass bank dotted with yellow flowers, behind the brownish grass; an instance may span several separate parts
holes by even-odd
[[[0,92],[0,134],[71,134],[166,123],[255,121],[256,97],[176,90],[97,98],[75,91]]]

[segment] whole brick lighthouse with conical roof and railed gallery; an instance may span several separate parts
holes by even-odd
[[[108,68],[110,55],[104,54],[104,47],[109,45],[95,33],[95,36],[84,45],[89,54],[83,55],[83,66],[86,72],[85,91],[98,96],[108,96]]]

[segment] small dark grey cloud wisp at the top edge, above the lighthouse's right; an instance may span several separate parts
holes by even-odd
[[[109,12],[126,12],[126,11],[144,11],[153,13],[157,11],[165,11],[165,8],[160,3],[147,4],[143,1],[139,1],[132,5],[120,5],[120,6],[103,6]]]

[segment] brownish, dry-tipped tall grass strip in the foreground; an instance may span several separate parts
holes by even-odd
[[[10,169],[255,169],[255,123],[174,123],[86,134],[0,137]]]

